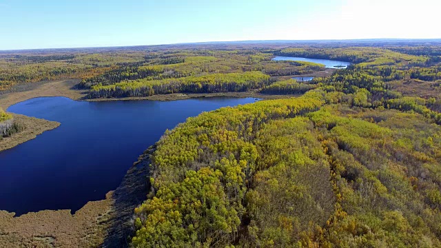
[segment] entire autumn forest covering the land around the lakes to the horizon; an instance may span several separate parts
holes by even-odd
[[[86,101],[228,92],[263,99],[165,132],[150,149],[131,247],[441,247],[440,44],[0,54],[3,92],[61,79],[76,79],[72,90]],[[1,136],[19,130],[0,111]]]

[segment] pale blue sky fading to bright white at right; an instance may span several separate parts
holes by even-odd
[[[0,0],[0,50],[440,39],[440,0]]]

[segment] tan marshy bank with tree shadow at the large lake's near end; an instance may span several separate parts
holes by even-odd
[[[147,198],[147,149],[123,178],[121,185],[75,214],[70,210],[43,210],[14,217],[0,211],[0,247],[127,247],[133,235],[132,216]]]

